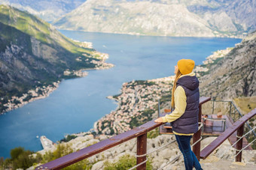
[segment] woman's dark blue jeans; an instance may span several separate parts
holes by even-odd
[[[202,170],[196,155],[194,154],[193,151],[191,151],[191,148],[190,148],[191,136],[175,135],[175,138],[178,142],[178,148],[181,150],[181,153],[183,154],[186,170],[192,170],[193,166],[198,170]]]

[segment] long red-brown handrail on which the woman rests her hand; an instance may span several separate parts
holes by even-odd
[[[210,97],[200,97],[200,106],[203,103],[211,100]],[[163,123],[155,123],[153,121],[148,121],[146,124],[142,124],[139,127],[129,130],[125,133],[120,133],[117,136],[113,136],[110,139],[105,139],[101,142],[98,142],[94,145],[90,145],[87,148],[81,149],[80,151],[73,152],[64,157],[60,157],[56,160],[53,160],[49,163],[45,163],[42,166],[38,166],[36,169],[62,169],[66,166],[70,166],[74,163],[77,163],[81,160],[84,160],[88,157],[92,157],[95,154],[99,154],[102,151],[113,148],[114,146],[120,145],[123,142],[134,139],[138,136],[142,136],[145,133],[148,133],[151,130],[154,130],[157,127],[160,127]]]

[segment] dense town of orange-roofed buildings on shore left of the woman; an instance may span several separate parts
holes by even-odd
[[[130,122],[146,109],[155,109],[158,99],[169,92],[174,76],[148,81],[123,83],[121,94],[114,97],[118,106],[94,124],[97,134],[119,134],[130,130]]]

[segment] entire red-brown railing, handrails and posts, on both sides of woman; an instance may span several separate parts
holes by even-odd
[[[199,122],[201,122],[201,115],[202,115],[202,105],[203,103],[208,102],[211,100],[210,97],[200,97],[200,113],[199,113]],[[248,119],[252,118],[256,115],[256,109],[248,113],[247,115],[240,118],[233,124],[233,127],[228,128],[224,133],[221,134],[217,139],[215,139],[210,145],[200,151],[200,140],[201,137],[201,130],[198,130],[197,133],[193,136],[193,151],[196,155],[197,159],[200,158],[206,159],[209,154],[212,153],[219,145],[224,142],[230,135],[232,135],[237,130],[237,136],[241,138],[243,134],[243,127]],[[44,165],[38,166],[36,170],[43,170],[43,169],[62,169],[66,166],[70,166],[74,163],[78,163],[81,160],[84,160],[88,157],[92,157],[95,154],[99,154],[102,151],[108,150],[113,148],[114,146],[120,145],[123,142],[127,142],[131,139],[137,138],[137,157],[136,157],[136,169],[146,169],[146,162],[147,162],[147,133],[151,130],[154,130],[157,127],[160,127],[163,123],[155,123],[153,121],[148,121],[146,124],[142,124],[139,127],[134,128],[133,130],[129,130],[125,133],[121,133],[117,136],[111,137],[110,139],[105,139],[95,145],[91,145],[87,148],[81,149],[80,151],[76,151],[72,154],[68,154],[64,157],[60,157],[59,159],[53,160],[49,163],[45,163]],[[238,138],[238,139],[239,139]],[[237,140],[238,140],[237,139]],[[242,140],[237,142],[236,145],[237,156],[236,160],[241,162],[242,159]],[[239,153],[238,153],[239,151]],[[149,154],[149,153],[148,153]],[[179,156],[178,156],[179,157]],[[176,157],[176,160],[178,158]],[[175,160],[172,160],[175,161]],[[172,162],[171,161],[171,162]]]

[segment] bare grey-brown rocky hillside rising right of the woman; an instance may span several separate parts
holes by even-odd
[[[223,100],[256,96],[256,31],[212,63],[202,65],[200,93]]]

